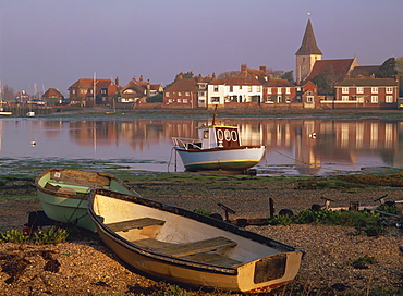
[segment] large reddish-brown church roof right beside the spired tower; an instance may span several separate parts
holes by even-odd
[[[309,76],[305,81],[312,81],[316,75],[333,71],[337,75],[347,75],[354,66],[358,65],[356,59],[318,60],[315,62]]]

